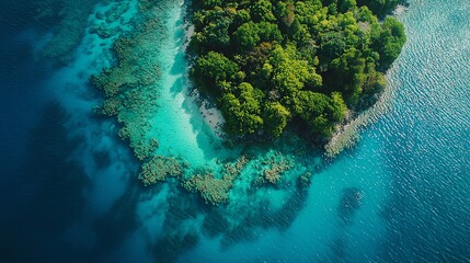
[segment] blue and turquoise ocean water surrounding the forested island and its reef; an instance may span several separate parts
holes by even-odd
[[[0,3],[0,262],[470,262],[470,1],[410,0],[387,111],[360,141],[305,191],[248,198],[236,182],[225,208],[144,187],[117,124],[93,112],[89,78],[113,65],[136,0],[39,2]],[[220,150],[187,95],[186,4],[154,2],[161,153],[216,165],[237,150]]]

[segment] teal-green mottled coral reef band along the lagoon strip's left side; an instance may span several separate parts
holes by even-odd
[[[113,9],[115,11],[107,11],[100,16],[105,21],[116,20],[116,13],[122,13],[127,5],[118,5],[119,8]],[[92,76],[91,81],[105,96],[98,111],[107,116],[116,116],[122,124],[119,137],[129,140],[139,160],[150,159],[147,164],[153,165],[151,163],[157,160],[152,159],[152,155],[158,148],[158,141],[148,132],[154,129],[149,119],[158,108],[160,67],[154,57],[158,56],[156,43],[159,43],[162,28],[157,11],[147,12],[153,16],[146,14],[145,21],[139,20],[139,24],[135,24],[133,34],[122,36],[114,43],[116,65]],[[149,180],[147,176],[140,178]],[[146,184],[149,182],[152,181]]]

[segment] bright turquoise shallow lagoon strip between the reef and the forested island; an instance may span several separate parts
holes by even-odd
[[[162,78],[159,81],[159,111],[152,123],[159,140],[158,152],[164,156],[181,156],[193,165],[204,165],[215,158],[223,158],[217,151],[219,139],[214,136],[199,114],[192,96],[187,79],[187,61],[182,48],[185,38],[184,2],[176,2],[162,14],[169,36],[160,43],[159,60]],[[171,35],[171,34],[174,34]]]

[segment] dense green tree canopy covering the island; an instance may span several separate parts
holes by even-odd
[[[289,124],[329,138],[374,103],[405,42],[398,0],[203,0],[191,42],[196,85],[227,133],[276,138]]]

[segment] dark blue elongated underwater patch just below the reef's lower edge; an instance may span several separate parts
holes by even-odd
[[[307,199],[308,188],[298,188],[286,203],[277,209],[268,202],[259,202],[250,207],[249,215],[233,220],[227,206],[209,207],[198,196],[176,188],[169,194],[165,203],[163,229],[158,240],[151,245],[156,262],[175,262],[184,252],[195,248],[202,237],[221,238],[220,248],[255,241],[261,231],[270,228],[286,230],[295,220]],[[181,192],[183,191],[183,193]],[[204,218],[200,221],[200,218]],[[229,221],[230,220],[230,221]]]

